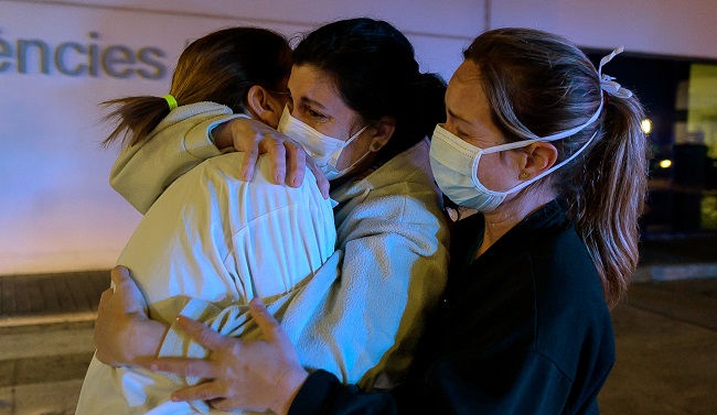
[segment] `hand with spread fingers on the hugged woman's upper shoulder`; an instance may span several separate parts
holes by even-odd
[[[212,135],[218,149],[233,146],[236,151],[244,152],[242,177],[245,181],[254,177],[259,154],[268,154],[275,184],[286,183],[288,186],[298,187],[303,182],[308,167],[317,177],[317,185],[323,197],[329,197],[329,181],[317,163],[307,156],[301,144],[271,127],[257,120],[235,118],[214,128]]]

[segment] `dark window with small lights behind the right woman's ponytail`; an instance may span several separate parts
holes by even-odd
[[[597,67],[609,52],[588,56]],[[717,62],[623,53],[603,70],[648,113],[653,154],[643,238],[717,233]]]

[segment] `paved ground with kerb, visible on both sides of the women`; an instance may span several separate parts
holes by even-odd
[[[74,414],[107,270],[0,276],[0,415]],[[717,414],[717,237],[649,240],[612,312],[607,415]]]

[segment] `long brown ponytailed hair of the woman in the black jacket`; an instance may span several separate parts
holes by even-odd
[[[600,79],[569,41],[529,29],[485,32],[465,50],[475,63],[494,123],[509,141],[555,134],[585,123],[602,99]],[[559,163],[548,177],[568,200],[569,215],[602,281],[608,306],[624,295],[638,265],[638,218],[648,183],[644,111],[635,96],[604,99],[597,122],[552,143]]]

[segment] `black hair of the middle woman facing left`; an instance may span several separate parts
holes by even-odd
[[[344,102],[366,123],[396,119],[378,153],[388,160],[446,120],[446,83],[421,74],[408,39],[385,21],[340,20],[309,33],[293,51],[295,65],[312,65],[333,77]]]

